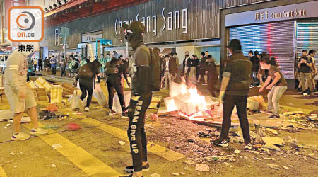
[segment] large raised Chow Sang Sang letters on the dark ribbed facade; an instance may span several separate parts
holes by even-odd
[[[159,27],[157,25],[157,19],[163,18],[163,25]],[[139,13],[136,15],[136,21],[141,21],[143,25],[146,27],[146,33],[152,33],[153,36],[156,36],[158,30],[176,30],[182,28],[182,34],[187,33],[187,19],[188,19],[188,9],[184,8],[182,10],[170,11],[165,13],[165,8],[161,10],[161,16],[151,15],[151,16],[143,16],[139,18]],[[133,19],[122,21],[121,18],[116,18],[114,23],[114,30],[116,35],[120,28],[122,28],[122,24],[129,24]]]

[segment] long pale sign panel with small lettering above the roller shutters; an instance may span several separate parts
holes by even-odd
[[[225,16],[225,26],[285,21],[297,18],[318,17],[318,1],[264,8],[257,11],[233,13]]]

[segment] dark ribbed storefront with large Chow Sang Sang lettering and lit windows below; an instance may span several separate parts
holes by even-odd
[[[208,50],[220,61],[220,6],[222,1],[146,1],[109,13],[49,26],[45,28],[48,46],[42,47],[49,47],[50,55],[63,52],[61,42],[57,42],[62,40],[62,37],[56,31],[66,26],[70,28],[66,51],[95,57],[116,50],[126,57],[126,44],[119,42],[119,29],[124,23],[141,21],[146,26],[144,41],[147,45],[160,47],[161,51],[166,53],[177,52],[180,60],[183,59],[185,51],[199,56],[201,52]],[[91,40],[87,41],[87,38]],[[105,46],[97,42],[96,47],[96,42],[93,41],[95,38],[111,40],[112,45]]]

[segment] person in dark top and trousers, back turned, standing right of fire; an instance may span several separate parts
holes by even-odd
[[[252,83],[252,62],[242,53],[240,40],[233,39],[228,45],[228,52],[232,55],[223,72],[220,88],[220,103],[223,103],[223,122],[220,139],[211,144],[228,147],[228,132],[231,125],[231,115],[234,106],[240,119],[240,126],[245,141],[245,149],[252,147],[249,137],[249,122],[247,120],[247,95]]]

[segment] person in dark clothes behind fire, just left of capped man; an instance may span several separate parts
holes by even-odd
[[[216,61],[211,55],[206,58],[206,69],[208,69],[208,91],[213,97],[216,97],[215,86],[218,82],[218,73],[216,72]]]

